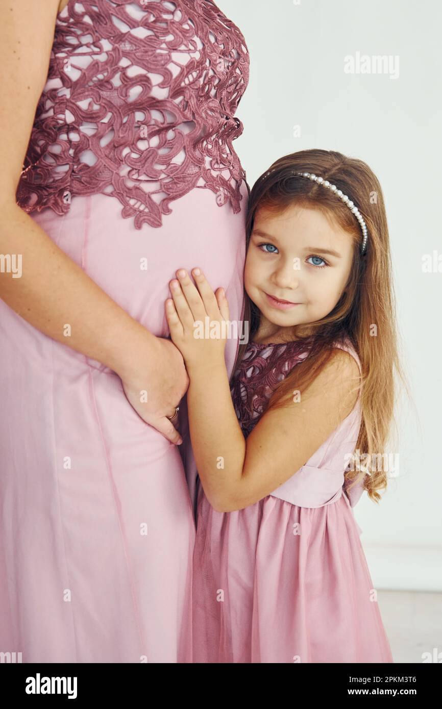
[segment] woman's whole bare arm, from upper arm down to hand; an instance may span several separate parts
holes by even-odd
[[[16,204],[16,189],[35,109],[48,75],[60,0],[21,0],[0,7],[0,253],[21,255],[21,277],[0,272],[0,297],[18,315],[63,345],[114,370],[137,413],[171,442],[179,433],[165,418],[187,388],[181,354],[126,313]],[[69,323],[71,335],[64,336]],[[125,389],[125,391],[126,391]],[[127,394],[126,394],[127,395]]]

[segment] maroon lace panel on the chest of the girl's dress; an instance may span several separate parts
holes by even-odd
[[[265,412],[277,384],[307,356],[299,342],[249,342],[231,381],[231,396],[244,437]]]

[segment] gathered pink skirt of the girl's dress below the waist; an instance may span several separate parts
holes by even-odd
[[[345,494],[220,513],[199,484],[197,512],[194,662],[393,662]]]

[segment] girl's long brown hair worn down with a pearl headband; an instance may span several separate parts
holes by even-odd
[[[269,171],[270,174],[267,174]],[[364,255],[360,255],[360,225],[348,206],[331,190],[305,177],[295,176],[294,172],[311,172],[324,177],[355,203],[368,227]],[[389,235],[380,183],[365,162],[340,152],[300,150],[285,155],[270,166],[250,191],[245,225],[246,250],[258,209],[282,214],[284,209],[295,204],[321,210],[327,218],[332,218],[353,235],[353,265],[344,292],[331,313],[309,323],[309,335],[302,335],[302,331],[306,332],[305,326],[293,328],[294,339],[299,340],[299,351],[308,354],[278,384],[267,410],[287,406],[292,401],[294,390],[305,392],[333,356],[333,343],[348,339],[358,353],[362,368],[362,423],[355,449],[361,455],[368,454],[368,460],[372,460],[372,456],[375,460],[379,456],[385,460],[382,451],[394,421],[394,372],[397,372],[407,391],[408,386],[398,355]],[[260,311],[245,291],[244,298],[243,320],[248,323],[248,339],[251,341],[258,330]],[[239,347],[232,377],[247,344],[243,342]],[[355,388],[359,388],[359,384]],[[363,476],[360,472],[363,467],[358,464],[348,467],[354,469],[346,469],[347,489]],[[364,489],[376,502],[380,500],[378,491],[387,487],[389,469],[385,470],[385,465],[382,467],[382,470],[367,471],[368,475],[364,476]]]

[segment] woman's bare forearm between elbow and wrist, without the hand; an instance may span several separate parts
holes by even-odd
[[[131,373],[131,352],[156,338],[126,313],[11,200],[0,201],[2,254],[19,254],[22,274],[0,273],[0,296],[18,315],[72,350],[120,376]],[[63,335],[70,325],[69,337]]]

